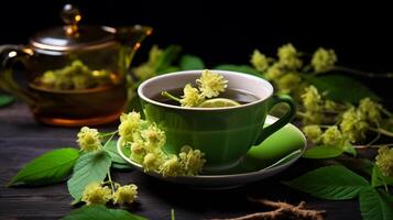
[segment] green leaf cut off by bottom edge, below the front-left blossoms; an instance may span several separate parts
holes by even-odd
[[[146,220],[146,218],[122,209],[108,209],[102,205],[92,205],[75,209],[63,220]]]

